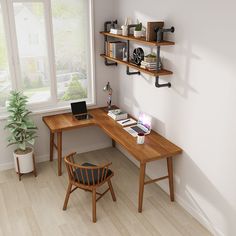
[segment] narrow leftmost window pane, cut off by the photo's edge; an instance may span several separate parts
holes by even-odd
[[[4,32],[2,8],[0,5],[0,107],[5,106],[10,90],[11,82],[7,57],[6,35]]]

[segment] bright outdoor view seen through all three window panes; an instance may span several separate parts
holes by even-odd
[[[57,98],[88,97],[89,25],[87,0],[51,0]],[[14,2],[24,94],[30,102],[50,98],[50,64],[45,35],[45,9],[40,2]],[[11,82],[0,6],[0,107],[5,106]],[[7,88],[7,89],[6,89]]]

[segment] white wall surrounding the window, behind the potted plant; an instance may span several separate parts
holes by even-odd
[[[99,0],[94,1],[94,35],[95,35],[95,83],[97,106],[106,105],[107,94],[103,92],[103,87],[110,81],[113,89],[114,103],[117,101],[117,81],[114,78],[115,68],[106,68],[104,61],[99,56],[103,48],[103,37],[99,31],[103,30],[104,21],[110,20],[114,15],[115,9],[112,7],[113,1]],[[33,116],[36,125],[38,126],[38,138],[35,145],[36,160],[48,160],[49,157],[49,131],[42,122],[42,116],[50,113],[37,114]],[[13,166],[12,151],[14,147],[7,146],[7,132],[4,131],[5,120],[0,120],[0,170],[11,168]],[[63,133],[63,153],[71,151],[84,152],[103,148],[111,145],[111,140],[98,127],[89,127]],[[56,154],[56,152],[55,152]]]

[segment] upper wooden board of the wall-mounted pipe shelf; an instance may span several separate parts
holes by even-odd
[[[114,38],[118,38],[118,39],[130,40],[130,41],[146,44],[146,45],[149,45],[149,46],[171,46],[171,45],[175,45],[174,42],[164,41],[164,40],[161,41],[160,43],[158,43],[156,41],[148,42],[148,41],[146,41],[145,37],[135,38],[133,35],[123,36],[123,35],[120,35],[120,34],[111,34],[109,32],[100,32],[100,34],[110,36],[110,37],[114,37]]]

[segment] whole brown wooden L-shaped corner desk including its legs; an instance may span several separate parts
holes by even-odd
[[[163,179],[169,179],[170,199],[174,201],[173,164],[172,157],[182,152],[181,148],[171,143],[158,133],[151,131],[145,137],[145,143],[136,144],[136,138],[126,132],[116,121],[110,118],[104,108],[90,109],[93,116],[90,120],[77,120],[71,113],[44,116],[43,121],[50,130],[50,161],[53,161],[53,148],[57,149],[58,175],[62,174],[62,132],[86,126],[97,125],[112,139],[112,145],[119,143],[140,163],[138,211],[142,212],[144,185]],[[54,135],[57,144],[54,143]],[[166,176],[145,181],[146,164],[151,161],[166,158],[168,174]]]

